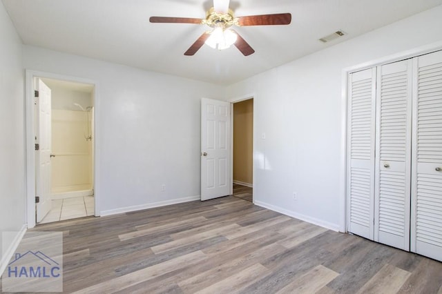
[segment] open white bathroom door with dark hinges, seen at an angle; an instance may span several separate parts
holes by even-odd
[[[51,169],[50,169],[50,150],[51,150],[51,96],[50,88],[44,84],[41,79],[36,79],[35,88],[38,91],[36,97],[36,137],[39,150],[35,157],[35,192],[39,197],[39,203],[36,204],[37,222],[49,212],[51,208]]]

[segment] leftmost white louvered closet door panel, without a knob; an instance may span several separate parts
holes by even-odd
[[[376,68],[349,75],[348,231],[373,239]]]

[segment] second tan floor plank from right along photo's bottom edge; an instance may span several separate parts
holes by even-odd
[[[338,277],[338,273],[332,271],[325,266],[319,265],[312,268],[310,271],[301,275],[296,280],[278,291],[278,294],[310,294],[316,293],[329,282]]]

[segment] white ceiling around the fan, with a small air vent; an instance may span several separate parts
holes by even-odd
[[[183,53],[207,29],[149,23],[151,16],[204,18],[211,0],[2,0],[23,43],[75,55],[229,85],[434,6],[442,0],[240,0],[235,16],[290,12],[289,26],[236,31],[256,50],[203,46]],[[324,44],[336,30],[348,35]]]

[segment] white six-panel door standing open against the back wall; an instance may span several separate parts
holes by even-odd
[[[230,193],[230,115],[229,102],[201,100],[201,200]]]

